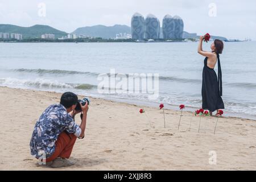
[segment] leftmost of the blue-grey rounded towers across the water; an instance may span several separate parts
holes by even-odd
[[[144,17],[135,13],[131,18],[131,37],[137,40],[143,40],[145,36],[145,20]]]

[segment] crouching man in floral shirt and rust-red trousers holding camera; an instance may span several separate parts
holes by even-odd
[[[80,126],[74,121],[78,103],[77,95],[72,92],[64,93],[60,104],[49,106],[36,122],[30,141],[31,155],[46,162],[51,167],[67,167],[76,138],[84,138],[88,102],[81,103],[82,121]],[[43,156],[43,158],[42,158]]]

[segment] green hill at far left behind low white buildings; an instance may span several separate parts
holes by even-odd
[[[12,24],[0,24],[0,32],[22,34],[23,39],[41,38],[42,34],[55,34],[55,38],[61,38],[61,36],[67,35],[66,32],[40,24],[36,24],[32,27],[19,27]]]

